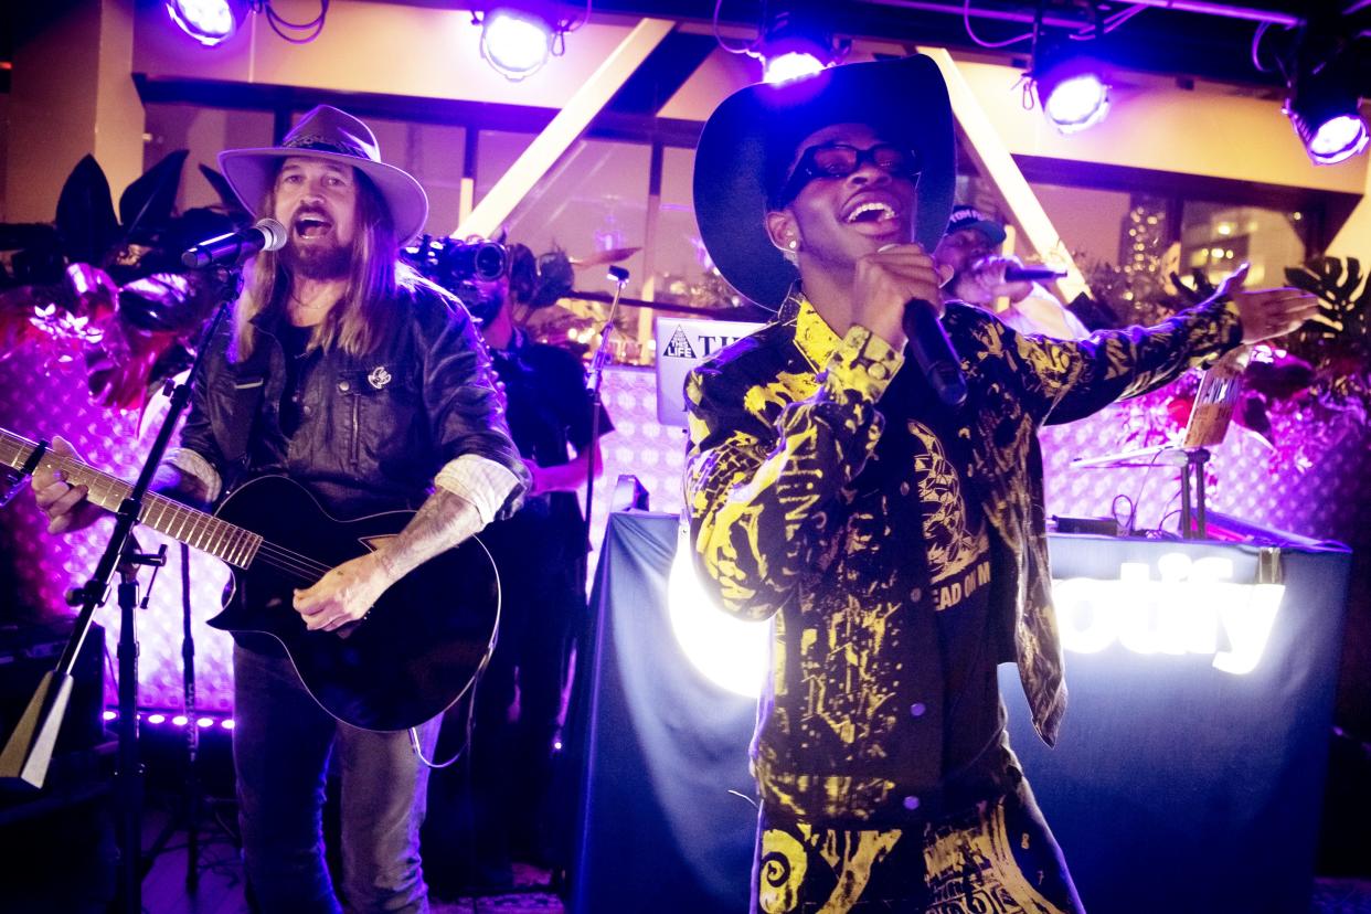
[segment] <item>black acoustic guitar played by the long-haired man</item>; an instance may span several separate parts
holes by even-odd
[[[36,447],[0,429],[3,465],[60,470],[73,485],[89,488],[90,502],[110,510],[133,489],[51,451],[29,467]],[[348,626],[345,637],[307,630],[292,607],[292,591],[372,551],[413,515],[389,511],[339,521],[296,482],[269,475],[240,486],[214,514],[149,493],[138,522],[208,552],[233,571],[225,608],[210,625],[276,637],[310,695],[337,719],[366,730],[403,730],[457,702],[495,643],[500,584],[481,541],[472,537],[410,571],[366,619]]]

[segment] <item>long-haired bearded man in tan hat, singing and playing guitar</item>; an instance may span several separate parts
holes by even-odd
[[[233,326],[210,341],[158,485],[213,504],[274,473],[335,517],[417,508],[398,536],[296,591],[310,630],[339,632],[410,570],[507,517],[528,471],[466,311],[399,263],[428,199],[381,162],[370,129],[322,106],[280,147],[232,149],[219,163],[248,211],[278,219],[288,240],[258,255]],[[40,473],[34,491],[53,532],[92,517],[84,486]],[[340,910],[321,840],[332,755],[348,910],[428,910],[418,856],[428,769],[410,740],[432,754],[437,721],[389,733],[341,724],[273,639],[236,640],[233,761],[259,906]]]

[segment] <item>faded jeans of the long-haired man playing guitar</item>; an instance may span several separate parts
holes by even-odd
[[[329,756],[341,776],[343,892],[350,911],[428,911],[420,825],[428,767],[407,732],[332,718],[285,656],[233,648],[239,822],[248,882],[266,914],[341,911],[324,861]],[[439,721],[420,728],[432,755]]]

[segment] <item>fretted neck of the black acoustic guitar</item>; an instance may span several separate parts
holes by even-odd
[[[37,443],[0,429],[0,463],[21,470],[36,447]],[[86,486],[86,499],[110,511],[118,511],[133,492],[133,486],[123,480],[52,451],[44,452],[38,466],[60,471],[71,485]],[[143,496],[138,523],[240,569],[252,563],[262,545],[262,537],[251,530],[154,492]]]

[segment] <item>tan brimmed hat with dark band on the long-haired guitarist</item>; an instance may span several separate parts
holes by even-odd
[[[393,164],[381,162],[381,148],[370,127],[332,106],[321,104],[304,115],[278,147],[225,149],[219,153],[219,169],[248,212],[254,217],[271,215],[258,210],[276,181],[281,160],[291,156],[350,164],[370,178],[391,212],[400,247],[424,230],[428,222],[424,188]]]

